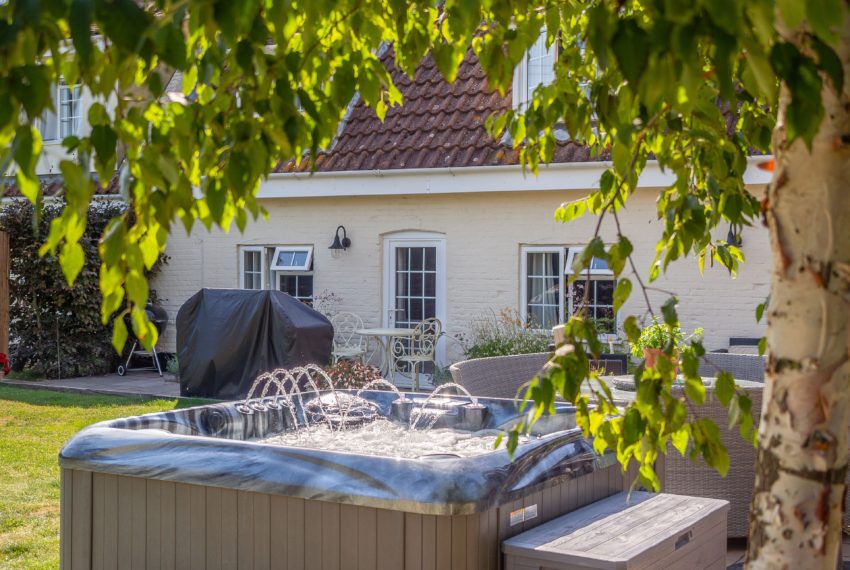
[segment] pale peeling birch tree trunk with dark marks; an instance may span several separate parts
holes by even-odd
[[[846,7],[845,7],[846,9]],[[824,79],[811,150],[787,144],[783,86],[765,208],[773,251],[769,358],[748,568],[834,570],[841,555],[850,400],[850,25],[840,97]],[[805,30],[779,28],[799,44]]]

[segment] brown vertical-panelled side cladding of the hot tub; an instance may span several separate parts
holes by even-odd
[[[615,465],[438,516],[74,469],[61,483],[63,570],[498,570],[506,538],[625,486]]]

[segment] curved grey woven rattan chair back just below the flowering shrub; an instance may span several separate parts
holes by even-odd
[[[548,352],[473,358],[449,367],[452,380],[474,396],[514,398],[534,378],[551,355]]]

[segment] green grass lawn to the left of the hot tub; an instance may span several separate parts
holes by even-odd
[[[0,385],[0,568],[59,567],[59,450],[103,420],[197,405]]]

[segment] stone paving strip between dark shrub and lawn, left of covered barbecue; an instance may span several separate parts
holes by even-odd
[[[142,396],[146,398],[178,398],[180,384],[173,374],[156,372],[128,372],[126,376],[107,374],[62,380],[7,380],[2,384],[36,390],[57,390],[84,394],[110,396]]]

